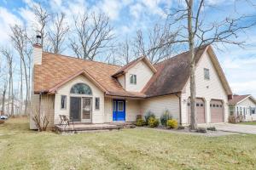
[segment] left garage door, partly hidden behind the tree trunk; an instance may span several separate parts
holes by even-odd
[[[188,99],[188,124],[190,124],[191,118],[191,108],[190,99]],[[196,99],[196,114],[198,123],[206,123],[206,111],[205,111],[205,101],[203,99]]]

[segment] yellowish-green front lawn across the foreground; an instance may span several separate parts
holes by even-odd
[[[255,169],[256,135],[204,137],[154,129],[59,135],[0,125],[0,169]]]

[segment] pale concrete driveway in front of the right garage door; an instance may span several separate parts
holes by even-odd
[[[215,124],[214,127],[216,127],[217,130],[225,132],[256,134],[256,126],[253,125],[224,123]]]

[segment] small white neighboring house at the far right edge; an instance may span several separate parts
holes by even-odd
[[[229,105],[230,116],[242,116],[244,121],[256,121],[256,100],[252,95],[234,95]]]

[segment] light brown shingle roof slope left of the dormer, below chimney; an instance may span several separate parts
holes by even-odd
[[[111,77],[119,68],[118,65],[108,65],[102,62],[43,52],[42,65],[35,65],[34,67],[34,92],[49,92],[49,89],[55,88],[69,77],[73,77],[80,71],[82,71],[81,74],[84,74],[86,71],[102,88],[107,90],[106,94],[144,97],[144,94],[141,93],[126,92],[119,82]]]

